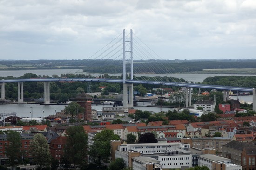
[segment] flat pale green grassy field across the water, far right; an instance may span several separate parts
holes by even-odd
[[[230,68],[230,69],[204,69],[202,71],[194,71],[187,73],[196,74],[256,74],[256,68]]]

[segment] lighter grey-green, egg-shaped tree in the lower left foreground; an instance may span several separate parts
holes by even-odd
[[[39,165],[40,170],[51,164],[50,148],[45,136],[41,133],[34,135],[28,151],[31,157],[33,157],[34,163]]]

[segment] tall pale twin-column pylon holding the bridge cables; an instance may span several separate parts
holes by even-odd
[[[126,49],[126,46],[129,46]],[[128,58],[126,58],[129,56]],[[130,64],[130,80],[133,80],[133,30],[126,38],[125,29],[123,30],[123,107],[128,112],[128,108],[133,108],[133,83],[126,83],[126,65]]]

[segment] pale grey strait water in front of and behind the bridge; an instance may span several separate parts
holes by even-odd
[[[60,76],[61,74],[88,74],[82,72],[82,69],[47,69],[47,70],[18,70],[18,71],[0,71],[0,76],[7,77],[20,77],[23,76],[25,73],[34,73],[37,75],[48,75],[52,76],[56,74]],[[91,75],[97,76],[98,73],[90,73]],[[120,74],[109,74],[110,76],[119,76]],[[166,74],[135,74],[135,76],[166,76]],[[194,81],[194,82],[203,82],[203,80],[207,77],[213,76],[231,76],[225,74],[168,74],[168,77],[176,77],[176,78],[183,78],[187,81]],[[255,75],[234,75],[234,76],[255,76]],[[237,99],[237,96],[230,96],[231,99]],[[240,101],[245,101],[247,103],[252,102],[252,96],[241,96],[239,97]],[[148,103],[147,103],[148,104]],[[146,105],[147,105],[146,104]],[[56,112],[60,112],[63,110],[65,105],[39,105],[39,104],[11,104],[11,105],[0,105],[0,113],[9,113],[9,112],[16,112],[17,116],[19,117],[45,117],[48,115],[54,115]],[[93,109],[101,110],[102,105],[92,105]],[[160,108],[160,107],[145,107],[143,103],[139,103],[135,109],[140,110],[148,110],[153,112],[160,112],[160,111],[168,111],[172,110],[171,108]]]

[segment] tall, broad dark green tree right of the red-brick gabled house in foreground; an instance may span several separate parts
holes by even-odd
[[[75,165],[87,164],[88,135],[82,126],[69,127],[67,130],[67,143],[64,155]]]

